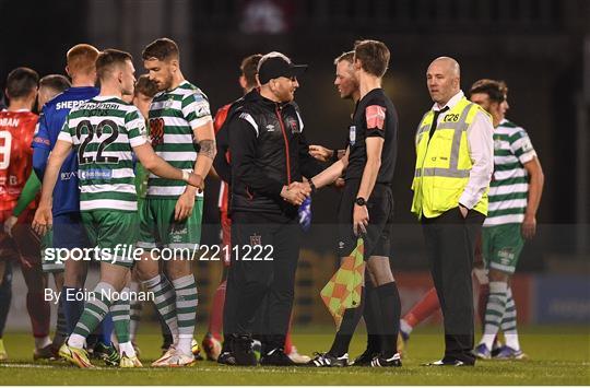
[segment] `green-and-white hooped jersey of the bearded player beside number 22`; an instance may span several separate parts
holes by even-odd
[[[176,89],[154,96],[149,118],[150,139],[156,154],[177,168],[192,172],[197,161],[192,130],[212,120],[206,95],[184,81]],[[185,188],[184,180],[150,174],[148,198],[177,199]]]

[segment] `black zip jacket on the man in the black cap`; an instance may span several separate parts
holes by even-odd
[[[228,118],[232,163],[231,211],[297,215],[281,190],[302,175],[322,171],[309,155],[304,124],[294,103],[274,103],[256,91]]]

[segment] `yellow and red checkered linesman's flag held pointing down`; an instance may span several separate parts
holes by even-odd
[[[363,238],[356,240],[356,248],[345,257],[338,271],[321,290],[321,299],[334,317],[337,330],[340,329],[344,310],[361,305],[361,287],[365,275]]]

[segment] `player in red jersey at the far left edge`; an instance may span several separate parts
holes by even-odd
[[[2,223],[11,216],[31,174],[33,164],[31,142],[38,120],[38,116],[31,109],[37,97],[38,80],[38,74],[27,68],[14,69],[7,80],[5,92],[10,104],[8,109],[0,111],[0,221]],[[5,280],[4,274],[11,271],[9,259],[16,258],[28,290],[26,308],[35,337],[34,358],[36,360],[49,358],[52,353],[49,339],[49,302],[44,297],[47,281],[40,264],[39,238],[31,230],[34,204],[32,203],[21,214],[19,223],[12,231],[12,237],[0,232],[0,282]],[[0,340],[10,307],[10,296],[9,293],[0,297],[3,301],[0,303]]]

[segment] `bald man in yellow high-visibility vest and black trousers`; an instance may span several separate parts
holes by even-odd
[[[426,71],[434,102],[418,125],[412,212],[422,223],[445,322],[445,355],[432,366],[471,366],[475,238],[487,215],[494,169],[489,115],[461,91],[459,63],[435,59]]]

